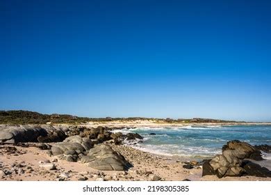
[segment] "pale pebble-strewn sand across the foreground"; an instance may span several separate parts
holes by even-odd
[[[0,146],[0,170],[11,170],[12,164],[21,164],[24,173],[12,173],[0,178],[0,180],[58,180],[60,173],[67,173],[69,178],[65,180],[78,180],[79,178],[88,178],[96,180],[97,177],[105,180],[151,180],[151,177],[159,176],[162,180],[271,180],[271,178],[256,178],[245,176],[240,178],[222,178],[216,176],[204,176],[202,178],[202,167],[197,166],[195,169],[184,169],[183,164],[172,157],[153,155],[150,153],[136,150],[129,146],[111,145],[114,150],[119,151],[126,159],[133,164],[129,171],[98,171],[92,169],[86,164],[80,162],[66,162],[58,160],[54,162],[57,170],[45,171],[40,168],[40,161],[54,161],[55,157],[49,157],[46,150],[40,150],[35,147],[23,148],[15,146],[21,154],[16,155],[3,153],[3,147]],[[19,169],[19,168],[16,168]],[[148,172],[148,171],[151,171]]]

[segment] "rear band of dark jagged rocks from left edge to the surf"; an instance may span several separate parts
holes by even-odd
[[[67,125],[0,125],[0,143],[60,142],[73,135],[91,139],[93,143],[112,140],[116,144],[132,139],[143,139],[139,134],[113,133],[108,127],[88,128]]]

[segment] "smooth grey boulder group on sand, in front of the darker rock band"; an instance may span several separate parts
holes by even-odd
[[[68,137],[61,143],[54,143],[49,150],[49,155],[69,162],[81,161],[88,166],[106,171],[124,171],[131,164],[110,146],[99,144],[93,147],[91,139],[79,135]]]

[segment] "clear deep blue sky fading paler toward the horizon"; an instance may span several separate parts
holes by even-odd
[[[0,109],[271,121],[271,1],[0,1]]]

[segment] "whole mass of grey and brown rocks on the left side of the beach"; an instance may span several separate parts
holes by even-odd
[[[120,144],[124,140],[140,139],[143,138],[139,134],[114,133],[108,127],[0,125],[0,143],[39,142],[42,143],[39,147],[48,150],[50,156],[68,162],[81,161],[99,170],[123,171],[131,167],[120,153],[106,143]]]

